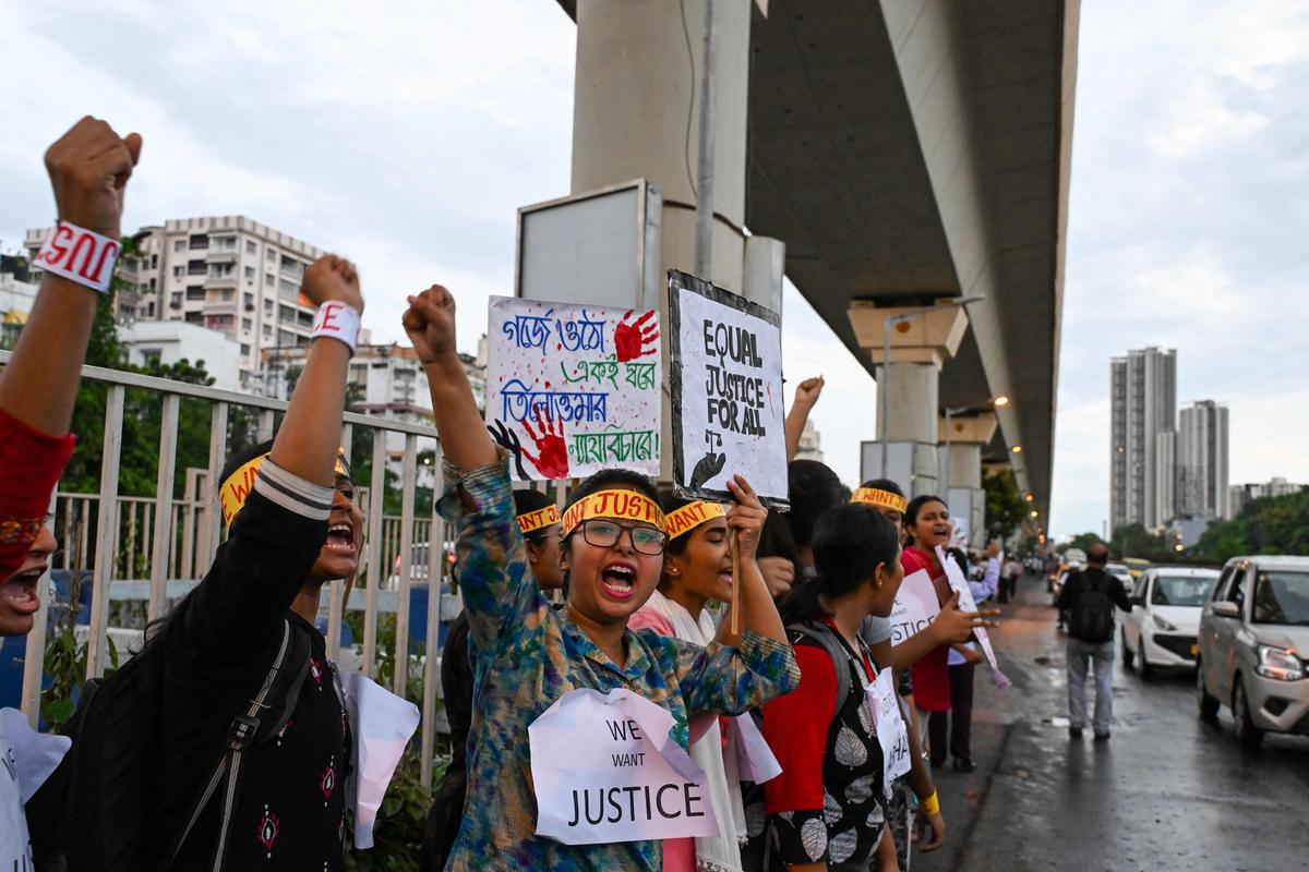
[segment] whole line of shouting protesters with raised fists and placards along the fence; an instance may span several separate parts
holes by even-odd
[[[56,548],[42,522],[73,452],[81,361],[141,146],[84,118],[46,154],[59,226],[0,374],[4,635],[27,633],[41,608]],[[352,577],[364,550],[336,441],[364,294],[332,255],[302,293],[318,307],[305,367],[276,437],[225,464],[213,566],[82,692],[69,735],[0,718],[0,868],[338,871],[348,830],[372,843],[418,713],[338,672],[314,628],[322,587]],[[505,383],[504,421],[488,428],[454,295],[432,285],[407,302],[465,604],[442,656],[452,761],[423,868],[903,869],[915,841],[940,847],[929,763],[944,761],[937,715],[959,686],[948,658],[974,663],[970,639],[997,613],[958,608],[945,502],[908,501],[888,480],[851,499],[823,464],[791,460],[822,379],[797,387],[784,420],[787,493],[757,492],[742,473],[762,469],[716,455],[728,431],[781,444],[763,417],[780,383],[754,329],[703,320],[716,429],[698,469],[700,482],[723,476],[720,499],[618,465],[661,456],[657,426],[609,420],[620,380],[658,390],[656,311],[509,315],[513,348],[585,356],[560,363],[562,386]],[[579,421],[609,429],[565,434]],[[600,468],[560,511],[512,488],[524,460],[538,478]]]

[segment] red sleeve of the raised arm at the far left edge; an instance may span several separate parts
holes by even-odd
[[[27,557],[75,442],[72,434],[46,435],[0,409],[0,579]]]

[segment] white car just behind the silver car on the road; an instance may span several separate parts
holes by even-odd
[[[1219,574],[1212,569],[1151,566],[1136,579],[1123,620],[1123,664],[1141,677],[1156,667],[1194,668],[1200,614]]]

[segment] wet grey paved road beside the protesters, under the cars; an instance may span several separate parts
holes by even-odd
[[[1196,716],[1191,675],[1143,681],[1118,662],[1113,739],[1069,741],[1045,582],[1024,579],[1003,608],[992,638],[1013,686],[978,669],[978,770],[937,770],[946,845],[914,872],[1309,869],[1309,740],[1244,752],[1227,709]]]

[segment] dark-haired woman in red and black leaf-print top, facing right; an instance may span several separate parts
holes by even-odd
[[[770,868],[864,872],[886,803],[867,688],[889,664],[873,659],[860,624],[891,613],[903,580],[899,532],[864,506],[839,506],[818,519],[813,557],[816,577],[781,605],[800,688],[763,707],[764,736],[781,763],[764,786]]]

